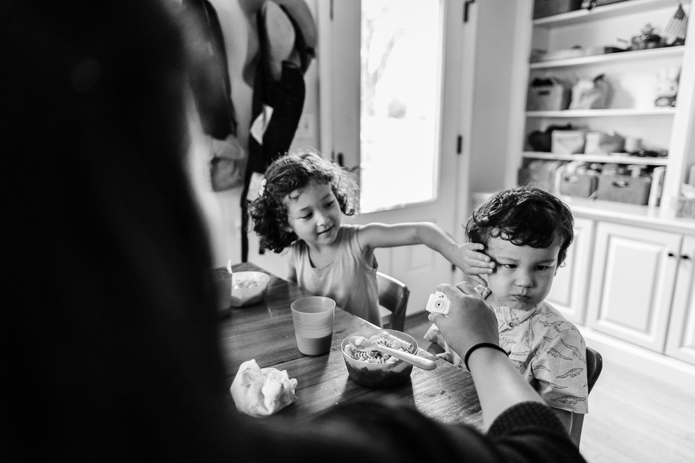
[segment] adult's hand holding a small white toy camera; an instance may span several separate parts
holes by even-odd
[[[473,285],[464,281],[456,286],[438,285],[438,291],[449,298],[449,317],[430,314],[430,321],[439,328],[450,348],[464,357],[468,348],[479,342],[499,344],[497,318],[489,306],[477,295]]]

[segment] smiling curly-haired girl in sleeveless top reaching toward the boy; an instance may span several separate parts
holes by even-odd
[[[428,222],[342,224],[343,214],[355,214],[355,201],[350,171],[316,153],[297,153],[266,169],[250,211],[261,246],[276,253],[289,248],[288,280],[381,326],[374,249],[425,244],[457,267],[464,254]]]

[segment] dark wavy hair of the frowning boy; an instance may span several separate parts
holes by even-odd
[[[487,246],[490,238],[506,239],[516,246],[547,248],[559,242],[558,267],[574,238],[574,219],[567,205],[537,187],[503,190],[473,212],[466,235]]]

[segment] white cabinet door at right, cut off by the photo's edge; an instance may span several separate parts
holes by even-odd
[[[695,365],[695,237],[683,239],[666,354]]]

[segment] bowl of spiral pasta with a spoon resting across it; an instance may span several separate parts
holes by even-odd
[[[366,337],[378,344],[409,353],[418,351],[415,338],[401,331],[372,328],[353,332],[343,339],[341,351],[347,374],[354,382],[366,387],[391,387],[410,378],[412,364],[379,351],[359,351],[350,344],[350,338],[354,336]]]

